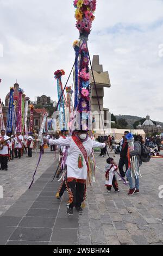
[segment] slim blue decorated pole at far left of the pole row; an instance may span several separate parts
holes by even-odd
[[[8,117],[7,117],[7,132],[12,132],[13,116],[14,116],[14,88],[11,87],[10,88]]]

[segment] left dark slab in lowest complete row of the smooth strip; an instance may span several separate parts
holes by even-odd
[[[10,240],[15,241],[49,241],[52,234],[51,228],[17,228]]]

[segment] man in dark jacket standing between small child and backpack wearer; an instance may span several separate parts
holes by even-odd
[[[128,142],[127,142],[127,139],[125,138],[128,133],[129,133],[129,131],[124,132],[124,139],[123,139],[122,149],[120,152],[120,161],[118,163],[118,168],[120,170],[120,174],[121,174],[122,178],[125,177],[126,172],[128,170],[128,158],[127,158]],[[124,164],[126,166],[126,172],[124,172],[124,170],[123,170]],[[119,180],[121,180],[121,179],[119,179]]]

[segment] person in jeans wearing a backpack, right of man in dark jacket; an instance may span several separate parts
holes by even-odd
[[[142,146],[141,146],[141,142],[139,141],[139,136],[137,135],[133,135],[134,137],[134,150],[130,151],[130,157],[136,156],[139,166],[141,166],[142,164],[142,160],[141,160],[141,151],[142,151]],[[139,191],[139,176],[134,176],[135,179],[135,186],[133,184],[133,177],[131,177],[131,170],[130,168],[127,170],[126,173],[127,179],[129,181],[129,192],[128,195],[132,196],[134,193],[138,194],[140,193]]]

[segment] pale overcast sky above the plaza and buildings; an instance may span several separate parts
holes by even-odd
[[[162,0],[97,0],[89,51],[109,71],[104,107],[114,114],[149,113],[163,121],[162,13]],[[53,73],[70,73],[75,24],[73,0],[0,0],[2,101],[16,79],[31,100],[42,94],[57,100]]]

